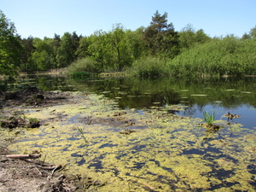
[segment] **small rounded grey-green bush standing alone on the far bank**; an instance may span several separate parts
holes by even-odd
[[[78,61],[74,61],[69,67],[67,67],[67,75],[74,76],[88,76],[91,73],[97,73],[96,61],[92,61],[89,58],[83,58]]]

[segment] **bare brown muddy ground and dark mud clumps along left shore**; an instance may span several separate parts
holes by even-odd
[[[38,121],[20,118],[15,108],[49,107],[68,103],[73,96],[68,93],[42,92],[29,87],[17,92],[0,92],[1,126],[8,131],[15,127],[38,127]],[[9,112],[9,113],[6,113]],[[12,138],[0,138],[0,191],[93,191],[103,183],[90,177],[66,175],[65,166],[50,165],[40,160],[7,158]],[[35,151],[35,154],[38,152]],[[90,186],[94,186],[93,189]]]

